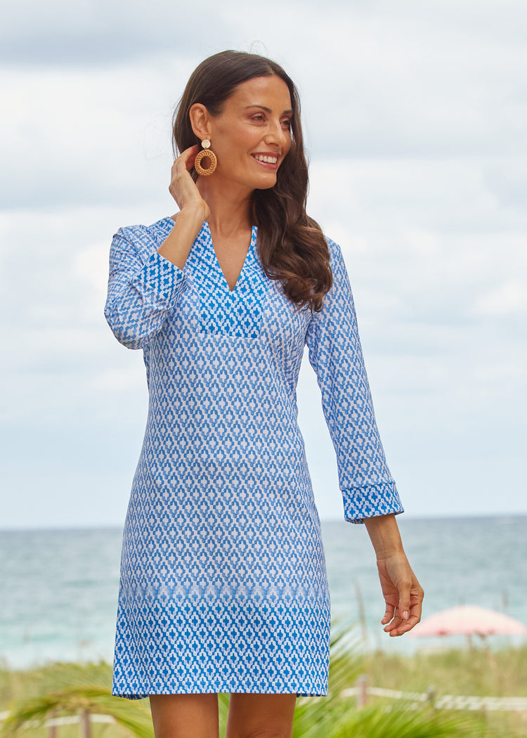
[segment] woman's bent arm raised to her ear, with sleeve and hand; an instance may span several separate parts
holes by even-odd
[[[141,257],[151,252],[153,237],[148,228],[121,228],[111,242],[104,314],[114,336],[126,348],[144,348],[161,330],[185,289],[182,270],[209,215],[207,204],[188,173],[198,148],[187,149],[173,163],[169,189],[180,212],[168,238],[148,261]]]

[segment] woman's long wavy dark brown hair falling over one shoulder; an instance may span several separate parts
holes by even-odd
[[[331,289],[328,244],[320,226],[306,213],[308,165],[300,124],[300,99],[292,79],[271,59],[257,54],[224,51],[210,56],[194,70],[173,116],[174,154],[200,143],[190,125],[189,111],[202,103],[211,115],[236,86],[253,77],[278,75],[288,86],[292,103],[291,148],[268,190],[255,190],[253,216],[258,225],[258,252],[270,279],[280,280],[292,303],[320,311]],[[194,179],[197,174],[192,171]]]

